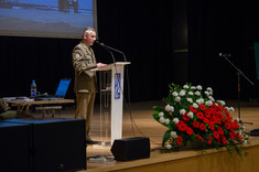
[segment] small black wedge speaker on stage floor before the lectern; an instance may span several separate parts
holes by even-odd
[[[150,139],[142,137],[116,139],[110,151],[117,161],[150,158]]]

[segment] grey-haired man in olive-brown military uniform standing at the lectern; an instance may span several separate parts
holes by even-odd
[[[94,112],[94,103],[97,92],[96,67],[102,67],[106,64],[97,63],[93,49],[96,41],[96,31],[93,28],[85,28],[82,42],[73,50],[73,66],[75,68],[75,94],[76,112],[75,118],[86,120],[86,143],[93,144],[89,137],[90,122]]]

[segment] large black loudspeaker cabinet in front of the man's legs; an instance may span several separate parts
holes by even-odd
[[[32,171],[86,169],[84,119],[10,119],[30,126]]]

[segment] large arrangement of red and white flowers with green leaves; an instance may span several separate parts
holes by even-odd
[[[168,127],[162,140],[165,151],[179,150],[187,143],[202,141],[203,148],[225,146],[229,153],[234,148],[242,157],[248,141],[245,126],[234,120],[223,100],[215,100],[211,87],[170,84],[164,108],[154,106],[153,118]],[[246,151],[245,151],[246,152]]]

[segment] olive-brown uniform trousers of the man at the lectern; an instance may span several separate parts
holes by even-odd
[[[76,94],[76,112],[75,118],[86,120],[86,140],[91,140],[89,137],[90,123],[94,114],[96,93],[77,93]]]

